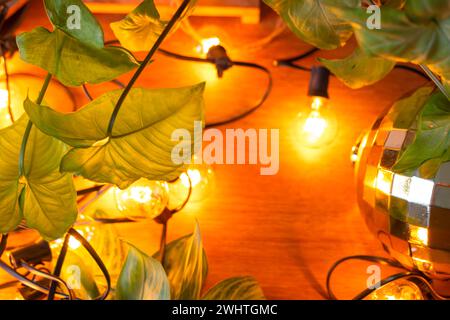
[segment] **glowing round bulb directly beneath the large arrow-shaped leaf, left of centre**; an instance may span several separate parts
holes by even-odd
[[[153,219],[160,215],[169,201],[166,182],[140,179],[126,190],[115,188],[117,209],[132,220]]]

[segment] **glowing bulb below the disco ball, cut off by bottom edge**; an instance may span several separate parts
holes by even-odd
[[[424,297],[415,283],[400,279],[380,287],[365,300],[424,300]]]

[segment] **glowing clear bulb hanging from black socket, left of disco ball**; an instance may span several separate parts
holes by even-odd
[[[326,98],[313,97],[311,108],[299,114],[298,138],[301,145],[320,148],[336,137],[337,121],[327,103]]]

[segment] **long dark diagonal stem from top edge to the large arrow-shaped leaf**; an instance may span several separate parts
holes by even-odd
[[[133,77],[131,78],[130,82],[127,84],[127,86],[123,90],[122,94],[119,97],[119,100],[117,100],[116,106],[114,107],[113,113],[112,113],[111,118],[109,120],[108,131],[107,131],[107,136],[108,137],[110,137],[110,138],[112,137],[112,130],[113,130],[113,127],[114,127],[114,123],[116,122],[117,115],[118,115],[118,113],[120,111],[120,108],[123,105],[123,102],[125,101],[126,97],[128,96],[128,93],[130,92],[131,88],[133,87],[133,85],[135,84],[136,80],[139,78],[141,73],[144,71],[144,69],[147,66],[147,64],[151,61],[153,55],[158,50],[159,46],[162,44],[164,39],[167,37],[167,35],[169,34],[170,30],[173,28],[173,26],[178,21],[178,19],[182,16],[183,12],[188,7],[190,1],[191,0],[183,0],[183,3],[180,5],[180,7],[177,9],[177,11],[173,15],[173,17],[170,19],[169,23],[166,25],[166,27],[164,28],[163,32],[161,33],[161,35],[156,40],[156,42],[153,45],[153,47],[151,48],[150,52],[145,57],[144,61],[142,61],[141,65],[136,70],[136,72],[133,75]]]

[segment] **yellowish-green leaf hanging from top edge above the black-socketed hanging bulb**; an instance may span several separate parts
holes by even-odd
[[[336,49],[352,35],[350,24],[328,9],[329,0],[264,0],[302,40],[321,49]],[[359,7],[360,0],[333,3]]]

